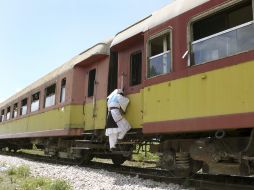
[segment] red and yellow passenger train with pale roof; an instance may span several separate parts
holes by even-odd
[[[253,174],[253,13],[253,0],[173,0],[2,102],[0,148],[120,165],[149,145],[176,176]],[[117,88],[132,129],[110,151]]]

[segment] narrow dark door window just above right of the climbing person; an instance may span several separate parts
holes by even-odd
[[[142,52],[133,53],[130,60],[130,85],[141,83]]]

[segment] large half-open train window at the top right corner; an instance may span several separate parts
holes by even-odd
[[[254,49],[251,0],[241,1],[192,23],[192,64]]]

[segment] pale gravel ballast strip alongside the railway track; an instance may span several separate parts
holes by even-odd
[[[74,190],[183,190],[179,185],[144,180],[138,177],[108,172],[103,169],[46,164],[3,155],[0,155],[0,164],[10,166],[27,165],[30,167],[33,176],[63,179]]]

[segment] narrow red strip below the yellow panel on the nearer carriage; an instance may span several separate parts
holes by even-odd
[[[144,134],[213,131],[218,129],[253,128],[254,112],[202,118],[181,119],[143,124]]]

